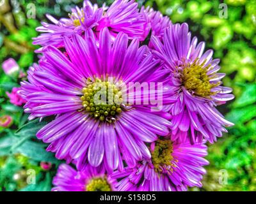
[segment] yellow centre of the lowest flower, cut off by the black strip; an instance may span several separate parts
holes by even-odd
[[[86,185],[86,191],[111,191],[111,187],[106,178],[97,178],[90,180]]]

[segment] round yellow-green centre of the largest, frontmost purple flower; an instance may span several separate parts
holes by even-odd
[[[92,81],[88,78],[81,100],[83,110],[102,122],[115,122],[116,115],[122,112],[122,92],[113,82],[102,82],[99,78]]]

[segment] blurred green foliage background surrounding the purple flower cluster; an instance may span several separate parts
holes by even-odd
[[[0,1],[0,65],[12,57],[21,73],[36,62],[31,38],[45,13],[67,17],[70,8],[81,0]],[[93,1],[102,4],[108,1]],[[36,18],[26,18],[31,4]],[[224,85],[232,87],[236,99],[219,109],[236,126],[214,145],[209,145],[210,165],[206,167],[201,189],[190,191],[256,191],[256,0],[227,1],[138,1],[152,6],[173,23],[187,22],[193,36],[206,41],[221,59],[221,71],[227,73]],[[221,4],[225,3],[225,4]],[[227,5],[227,18],[223,6]],[[45,151],[35,133],[44,124],[28,122],[20,106],[10,103],[6,91],[19,87],[22,77],[6,75],[0,68],[0,117],[10,115],[13,124],[0,127],[0,191],[49,191],[51,180],[61,161]],[[49,165],[51,163],[51,165]],[[48,168],[44,165],[47,164]],[[28,170],[35,170],[36,185],[28,184]]]

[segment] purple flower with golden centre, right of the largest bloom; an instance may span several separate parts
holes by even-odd
[[[172,97],[177,101],[166,107],[173,115],[172,139],[215,142],[233,125],[216,109],[234,98],[232,89],[221,86],[225,74],[217,73],[220,59],[212,59],[212,50],[204,52],[205,43],[197,44],[196,37],[191,41],[188,24],[171,25],[163,43],[155,36],[151,43],[172,75]]]

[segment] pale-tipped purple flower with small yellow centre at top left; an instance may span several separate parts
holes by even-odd
[[[34,45],[54,45],[55,47],[63,47],[63,37],[70,37],[73,34],[82,35],[84,31],[92,29],[98,25],[99,20],[102,18],[103,12],[106,7],[98,8],[97,4],[92,4],[90,1],[84,1],[83,8],[72,8],[69,18],[61,18],[57,20],[51,15],[47,14],[46,17],[52,22],[48,24],[42,22],[42,26],[36,28],[36,31],[42,32],[40,36],[34,38]],[[41,51],[39,49],[38,51]]]

